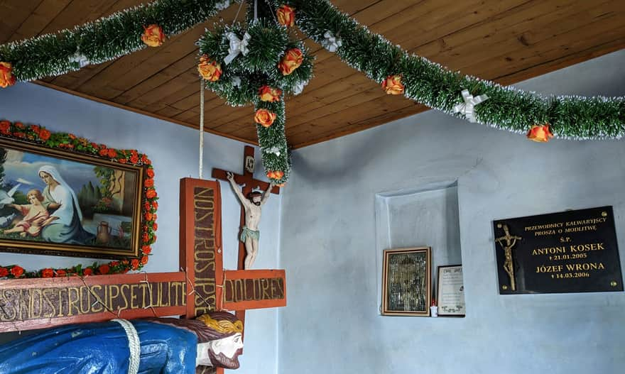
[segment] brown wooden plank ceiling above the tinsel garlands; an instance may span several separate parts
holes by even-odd
[[[140,4],[141,0],[0,1],[0,43],[51,33]],[[452,70],[513,84],[625,47],[622,0],[332,0],[391,42]],[[219,14],[232,21],[238,4]],[[10,15],[10,16],[6,16]],[[113,62],[40,84],[193,128],[200,119],[195,41],[212,19]],[[307,40],[315,77],[287,101],[293,148],[400,119],[427,108],[388,96],[379,84]],[[206,97],[208,131],[256,143],[251,107]],[[52,124],[48,124],[52,126]]]

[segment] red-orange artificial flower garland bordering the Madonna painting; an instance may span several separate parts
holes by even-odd
[[[35,278],[35,277],[67,277],[77,275],[123,274],[130,270],[141,270],[151,255],[151,245],[156,241],[156,209],[158,209],[158,195],[154,188],[154,168],[151,160],[137,150],[119,150],[107,145],[93,143],[85,138],[79,138],[72,133],[53,133],[47,128],[38,125],[25,125],[21,122],[0,121],[0,138],[26,141],[48,148],[61,148],[75,153],[82,153],[97,158],[121,163],[139,165],[146,168],[143,180],[143,204],[141,246],[137,258],[114,260],[109,263],[93,263],[83,266],[75,265],[71,268],[43,268],[27,272],[20,265],[0,264],[0,278]]]

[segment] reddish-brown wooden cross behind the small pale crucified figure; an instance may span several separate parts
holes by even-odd
[[[247,194],[252,192],[255,188],[266,190],[269,187],[269,183],[264,182],[262,180],[254,179],[254,165],[256,165],[256,160],[254,160],[254,148],[250,147],[249,145],[246,145],[245,150],[244,150],[244,156],[243,156],[243,174],[241,175],[241,174],[232,172],[232,174],[234,175],[234,182],[236,182],[237,185],[244,185],[243,190],[241,191],[241,194],[243,194],[243,196],[246,196]],[[228,174],[227,170],[222,170],[222,169],[217,169],[217,168],[213,168],[212,170],[212,177],[216,180],[227,181],[228,180],[227,174]],[[279,194],[280,187],[273,187],[273,189],[271,189],[271,193]],[[240,226],[241,227],[245,226],[245,209],[242,206],[241,206]],[[245,243],[243,243],[242,241],[239,241],[239,257],[238,257],[239,260],[237,264],[237,270],[244,269],[245,255],[246,255]],[[237,317],[245,323],[245,311],[244,310],[237,311]]]

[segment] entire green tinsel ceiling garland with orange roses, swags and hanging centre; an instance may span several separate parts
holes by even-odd
[[[254,1],[246,1],[251,9]],[[279,101],[264,101],[259,98],[266,97],[265,94],[259,92],[258,97],[254,97],[254,93],[265,84],[276,93],[278,89],[282,94],[301,92],[310,79],[306,67],[310,57],[295,45],[286,50],[284,43],[293,42],[285,39],[283,32],[275,32],[273,23],[279,24],[280,28],[298,26],[312,40],[381,84],[386,93],[403,95],[458,118],[523,133],[538,142],[549,141],[554,136],[609,139],[625,135],[623,97],[541,97],[464,76],[408,53],[381,35],[371,33],[328,0],[259,0],[258,3],[268,4],[271,9],[259,12],[261,21],[251,23],[248,11],[247,29],[222,27],[200,40],[198,68],[201,74],[204,72],[202,77],[207,80],[207,87],[227,99],[229,104],[252,103],[259,118],[266,116],[259,114],[259,109],[266,109],[276,116],[267,127],[263,124],[268,123],[265,120],[256,122],[259,123],[263,163],[268,177],[274,182],[286,182],[290,168],[283,131],[284,97],[275,95],[280,97]],[[158,47],[165,42],[167,35],[186,31],[229,5],[229,0],[156,0],[78,26],[72,31],[0,45],[0,87],[9,87],[16,81],[62,75],[85,65],[114,60],[146,46]],[[254,27],[259,23],[268,26],[268,32],[253,35]],[[234,35],[231,37],[228,33]],[[301,55],[295,49],[299,49]],[[290,71],[291,66],[303,57],[301,67],[295,70],[300,73],[294,77],[300,75],[300,78],[308,79],[291,79],[289,74],[281,79],[266,70],[266,66],[254,65],[254,60],[263,60],[259,60],[259,56],[283,58],[287,55],[292,56],[287,57],[290,60],[285,61],[281,71]],[[241,74],[235,75],[234,72]],[[264,76],[259,79],[253,72],[261,72]]]

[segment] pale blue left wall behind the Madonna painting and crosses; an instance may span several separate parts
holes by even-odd
[[[198,97],[199,100],[199,97]],[[114,148],[136,148],[153,161],[158,200],[158,241],[145,270],[178,271],[180,178],[197,177],[199,134],[191,128],[124,111],[94,101],[40,87],[17,84],[0,89],[0,119],[36,123],[51,131],[66,131]],[[207,119],[210,121],[210,118]],[[251,123],[249,126],[253,126]],[[213,167],[242,172],[244,144],[205,135],[204,177]],[[260,160],[260,155],[256,155]],[[256,178],[263,178],[260,163]],[[256,268],[277,268],[281,196],[273,195],[263,209],[260,253]],[[224,267],[235,269],[238,251],[239,203],[229,185],[222,182],[222,231]],[[0,253],[0,265],[19,263],[27,270],[67,267],[93,260]],[[275,373],[276,309],[254,310],[246,316],[246,350],[238,373]],[[0,341],[12,336],[0,334]],[[259,370],[262,368],[262,370]]]

